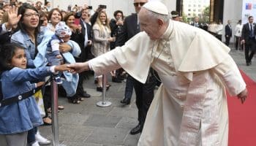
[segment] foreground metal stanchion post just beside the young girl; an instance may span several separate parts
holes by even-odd
[[[59,122],[58,122],[58,85],[54,80],[50,82],[51,95],[52,95],[52,106],[51,106],[51,117],[52,117],[52,136],[53,146],[64,146],[59,145]]]

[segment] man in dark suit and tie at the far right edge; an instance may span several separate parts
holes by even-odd
[[[241,43],[244,44],[244,55],[246,60],[246,66],[252,64],[252,58],[255,54],[255,34],[256,28],[253,23],[253,17],[249,16],[248,23],[244,24],[241,35]],[[249,53],[251,51],[251,53]]]

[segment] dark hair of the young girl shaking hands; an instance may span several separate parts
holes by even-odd
[[[12,62],[12,57],[15,55],[15,50],[17,49],[24,49],[24,47],[14,42],[0,46],[0,72],[12,69],[13,66],[10,66],[10,63]]]

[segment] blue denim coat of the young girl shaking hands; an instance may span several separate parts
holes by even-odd
[[[52,74],[50,67],[37,69],[13,68],[1,74],[1,91],[3,99],[18,96],[36,88],[34,82]],[[34,96],[14,104],[0,107],[0,134],[17,134],[29,131],[33,126],[42,124]]]

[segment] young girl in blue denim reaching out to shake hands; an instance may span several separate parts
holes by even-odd
[[[37,82],[53,72],[68,70],[67,65],[44,66],[37,69],[26,69],[27,60],[23,47],[15,43],[1,46],[1,92],[2,99],[19,96],[33,90],[43,82]],[[31,83],[37,82],[37,83]],[[26,146],[27,132],[33,126],[42,124],[42,118],[33,96],[0,107],[0,134],[8,146]]]

